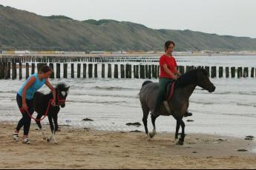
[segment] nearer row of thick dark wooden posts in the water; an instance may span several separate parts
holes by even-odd
[[[46,63],[38,63],[37,66],[35,63],[31,65],[26,63],[23,65],[22,63],[18,64],[19,67],[19,79],[22,79],[22,68],[25,67],[26,75],[25,78],[28,78],[30,74],[35,73],[35,69],[37,68],[37,72],[43,67],[47,65]],[[76,77],[77,78],[87,78],[87,67],[88,67],[88,78],[98,78],[98,65],[99,64],[77,64],[76,66]],[[105,68],[106,64],[102,65],[102,78],[105,78]],[[61,64],[56,63],[56,69],[54,69],[54,64],[50,63],[49,66],[53,69],[53,74],[50,78],[61,78]],[[70,64],[71,67],[71,78],[75,78],[75,64]],[[112,64],[108,64],[108,76],[107,78],[158,78],[159,75],[159,66],[158,65],[131,65],[131,64],[114,64],[114,76],[112,75]],[[31,69],[30,69],[31,68]],[[133,69],[132,69],[133,68]],[[207,72],[209,72],[209,76],[211,78],[217,78],[217,67],[194,67],[194,66],[179,66],[178,70],[184,74],[191,69],[196,68],[204,68]],[[11,75],[12,70],[12,75]],[[94,70],[94,71],[93,71]],[[120,71],[120,72],[119,72]],[[132,76],[132,71],[134,72],[134,76]],[[82,75],[81,75],[82,72]],[[218,77],[223,78],[224,67],[219,67],[218,69]],[[248,67],[225,67],[225,76],[226,78],[247,78],[249,77],[249,68]],[[229,75],[231,72],[231,75]],[[120,73],[120,74],[119,74]],[[255,67],[251,68],[250,77],[256,77]],[[16,63],[0,63],[0,79],[16,79],[17,78],[17,64]],[[68,78],[68,64],[63,64],[63,78]]]

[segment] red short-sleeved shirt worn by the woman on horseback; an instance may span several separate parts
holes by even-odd
[[[168,69],[171,70],[172,73],[176,73],[175,72],[175,67],[177,67],[177,63],[175,58],[173,57],[168,57],[167,55],[162,55],[160,57],[160,78],[173,78],[171,75],[168,75],[165,70],[163,69],[163,65],[166,64]]]

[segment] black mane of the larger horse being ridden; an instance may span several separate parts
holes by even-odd
[[[197,84],[198,78],[197,78],[197,72],[201,71],[204,75],[209,75],[206,69],[193,69],[189,72],[186,72],[184,75],[180,76],[180,78],[177,79],[174,88],[183,88],[185,86],[188,86],[189,84]]]

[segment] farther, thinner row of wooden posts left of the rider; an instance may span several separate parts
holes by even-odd
[[[92,57],[70,57],[70,56],[8,56],[0,57],[0,62],[11,63],[69,63],[69,62],[91,62],[91,63],[119,63],[119,62],[158,62],[159,57],[147,56],[92,56]]]

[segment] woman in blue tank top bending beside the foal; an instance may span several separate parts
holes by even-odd
[[[30,144],[28,138],[28,133],[30,130],[31,116],[34,112],[33,98],[37,90],[39,90],[44,84],[46,84],[51,92],[53,92],[53,101],[51,104],[55,106],[56,101],[56,90],[48,81],[52,73],[50,67],[42,67],[39,73],[35,73],[27,78],[27,81],[24,82],[22,87],[19,89],[18,94],[16,95],[16,101],[18,103],[19,109],[22,112],[22,119],[19,120],[19,123],[16,127],[16,130],[13,134],[13,139],[19,141],[19,130],[24,126],[24,136],[23,143]],[[28,113],[30,115],[28,115]]]

